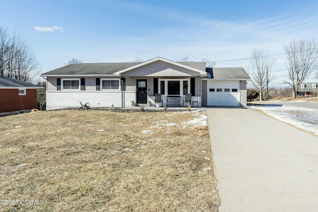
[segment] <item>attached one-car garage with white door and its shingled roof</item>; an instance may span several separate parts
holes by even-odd
[[[202,103],[206,106],[246,106],[246,82],[243,68],[206,68],[202,81]],[[205,97],[206,96],[206,97]]]

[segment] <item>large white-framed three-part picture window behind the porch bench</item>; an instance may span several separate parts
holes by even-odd
[[[158,90],[161,95],[183,96],[190,93],[190,79],[159,79]]]

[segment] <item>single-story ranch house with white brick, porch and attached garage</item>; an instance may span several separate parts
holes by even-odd
[[[71,64],[41,74],[47,80],[46,109],[78,107],[127,107],[151,102],[161,94],[156,106],[167,97],[179,103],[192,95],[198,106],[246,106],[243,68],[206,68],[205,62],[173,62],[155,58],[144,63]],[[181,104],[180,104],[181,105]]]

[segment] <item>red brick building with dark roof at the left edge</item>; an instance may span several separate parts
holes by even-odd
[[[38,85],[0,76],[0,113],[36,108]]]

